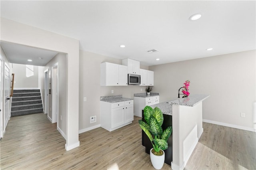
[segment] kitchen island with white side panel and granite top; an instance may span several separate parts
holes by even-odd
[[[164,126],[172,126],[168,149],[165,150],[168,155],[165,162],[174,170],[184,169],[202,135],[202,101],[208,97],[209,95],[190,95],[151,106],[161,109],[164,114]],[[142,132],[142,145],[146,150],[152,148],[152,144],[149,146],[145,140],[147,139]]]

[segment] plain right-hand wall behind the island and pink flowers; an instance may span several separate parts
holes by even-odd
[[[256,101],[256,51],[150,66],[160,102],[178,97],[178,89],[190,80],[190,94],[208,94],[203,101],[203,119],[253,130]],[[240,117],[240,113],[246,117]]]

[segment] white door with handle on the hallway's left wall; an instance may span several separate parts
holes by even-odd
[[[10,69],[4,65],[4,129],[10,119]]]

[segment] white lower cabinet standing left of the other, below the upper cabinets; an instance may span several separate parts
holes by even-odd
[[[108,131],[129,125],[133,121],[133,100],[118,103],[100,101],[100,126]]]

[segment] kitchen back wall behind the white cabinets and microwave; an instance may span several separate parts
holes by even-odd
[[[134,93],[145,93],[145,86],[100,86],[100,63],[122,64],[122,60],[80,50],[79,81],[79,132],[85,132],[100,125],[100,96],[123,95],[134,98]],[[142,69],[147,66],[140,65]],[[142,91],[140,91],[142,89]],[[114,90],[114,93],[111,93]],[[156,92],[153,91],[152,92]],[[84,102],[84,97],[87,101]],[[96,115],[96,123],[90,123],[90,116]]]

